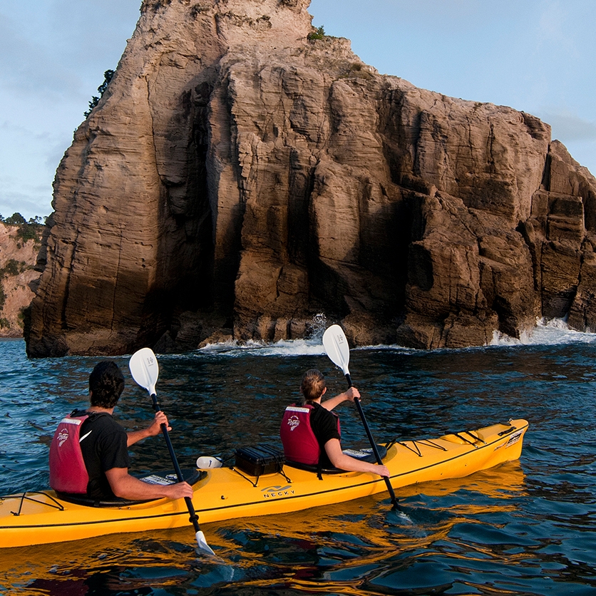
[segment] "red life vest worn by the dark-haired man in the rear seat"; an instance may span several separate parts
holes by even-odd
[[[56,428],[50,445],[50,486],[60,493],[86,493],[89,475],[78,444],[81,425],[89,417],[68,414]]]

